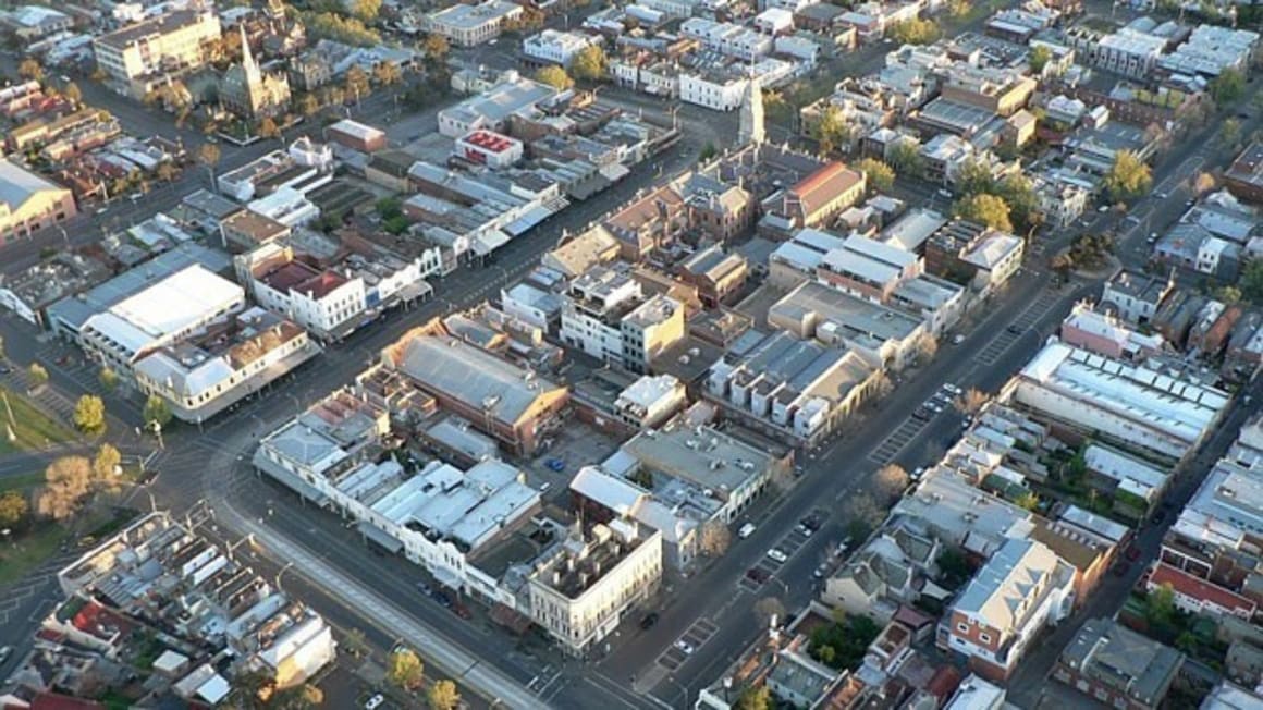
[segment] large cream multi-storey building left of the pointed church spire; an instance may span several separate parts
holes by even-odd
[[[116,29],[92,40],[96,64],[133,99],[206,63],[207,44],[220,38],[213,13],[177,10]]]

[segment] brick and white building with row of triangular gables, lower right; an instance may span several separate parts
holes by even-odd
[[[949,609],[938,646],[1003,682],[1039,632],[1070,615],[1074,601],[1074,567],[1043,543],[1008,539]]]

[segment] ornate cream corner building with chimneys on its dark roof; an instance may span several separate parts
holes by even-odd
[[[528,580],[530,617],[572,656],[596,651],[662,580],[662,533],[634,520],[576,531]]]

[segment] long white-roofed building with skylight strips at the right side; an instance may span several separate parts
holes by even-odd
[[[1123,448],[1182,459],[1228,407],[1226,392],[1051,342],[1005,388],[1012,399]]]

